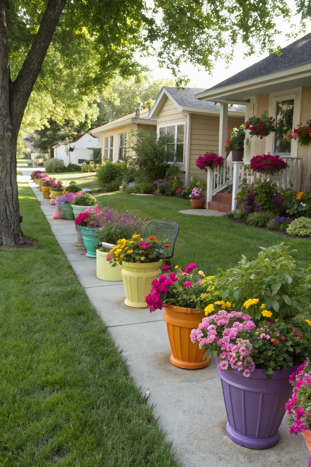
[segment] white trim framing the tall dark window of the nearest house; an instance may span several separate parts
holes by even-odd
[[[300,111],[301,111],[301,88],[287,89],[281,92],[272,92],[269,94],[269,115],[270,117],[276,118],[276,102],[280,100],[294,99],[294,111],[293,111],[293,127],[292,130],[300,123]],[[266,153],[270,152],[273,154],[274,149],[274,133],[270,133],[266,137]],[[298,141],[291,140],[290,145],[290,157],[298,156]],[[282,157],[282,156],[281,156]],[[284,156],[286,157],[286,156]],[[289,157],[289,156],[287,156]]]

